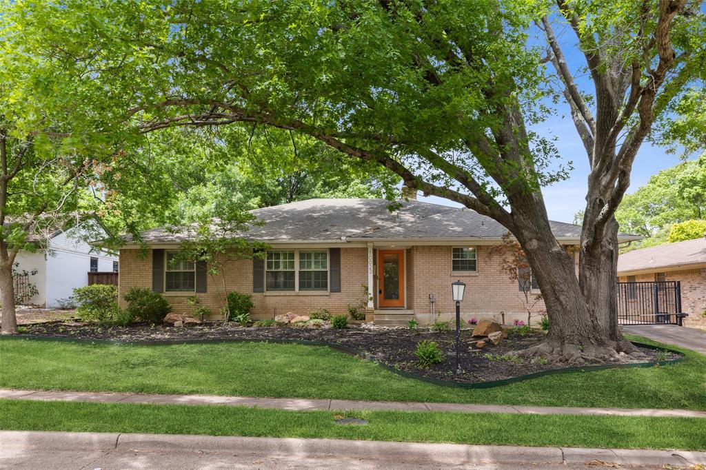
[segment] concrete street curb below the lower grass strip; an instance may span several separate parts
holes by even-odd
[[[366,440],[248,438],[207,435],[57,433],[0,431],[2,450],[156,450],[253,454],[268,457],[335,455],[359,461],[426,462],[427,464],[518,463],[561,464],[601,461],[624,465],[706,464],[706,452],[682,450],[583,449],[504,445],[427,444]]]

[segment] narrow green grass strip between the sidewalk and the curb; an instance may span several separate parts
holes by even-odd
[[[0,428],[467,444],[706,449],[703,420],[616,416],[366,411],[366,426],[340,426],[329,411],[232,406],[0,400]]]

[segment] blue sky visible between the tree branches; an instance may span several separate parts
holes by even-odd
[[[577,77],[577,85],[582,91],[593,95],[593,85],[587,73],[578,73],[585,66],[585,59],[574,47],[575,35],[573,31],[555,22],[554,32],[566,54],[569,68],[573,71],[574,76]],[[544,42],[542,37],[538,36],[532,38],[530,44],[543,45]],[[551,68],[551,64],[549,67],[550,71],[554,71]],[[545,102],[545,104],[553,106],[549,101]],[[547,138],[551,136],[558,138],[556,147],[560,152],[562,162],[573,162],[574,170],[571,172],[569,179],[554,183],[542,190],[549,218],[561,222],[573,222],[574,214],[585,207],[586,179],[589,173],[589,166],[586,152],[571,120],[568,105],[561,103],[556,115],[551,116],[541,126],[534,126],[533,130]],[[643,143],[633,164],[628,193],[632,193],[638,187],[647,183],[650,176],[656,174],[659,170],[672,167],[679,161],[678,154],[668,154],[663,147],[654,146],[648,142]],[[444,205],[458,205],[436,196],[430,198],[420,196],[419,200],[428,200],[429,202]]]

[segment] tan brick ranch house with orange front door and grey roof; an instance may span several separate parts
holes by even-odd
[[[362,302],[366,320],[406,325],[410,318],[429,324],[434,315],[450,320],[451,282],[462,279],[464,320],[502,320],[504,314],[505,323],[526,321],[523,289],[532,297],[539,289],[510,278],[501,269],[503,254],[490,250],[503,242],[507,229],[472,210],[410,196],[393,212],[384,199],[312,199],[254,210],[265,224],[246,237],[271,249],[264,260],[229,263],[228,289],[252,294],[253,319],[314,308],[345,313],[349,304]],[[578,244],[580,227],[551,225],[560,243]],[[183,237],[152,229],[141,234],[142,243],[126,239],[120,250],[121,302],[138,286],[162,292],[177,313],[187,313],[186,298],[196,295],[217,315],[222,305],[206,268],[169,263]],[[539,320],[542,301],[532,311]]]

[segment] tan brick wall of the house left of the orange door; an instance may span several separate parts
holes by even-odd
[[[130,287],[152,288],[152,252],[140,257],[140,250],[123,249],[120,251],[119,292],[120,303],[124,306],[123,297]],[[269,292],[253,293],[253,262],[239,260],[229,263],[225,269],[226,288],[228,291],[239,291],[252,294],[252,318],[274,318],[275,314],[293,312],[304,314],[313,308],[328,308],[332,313],[344,313],[349,303],[357,303],[366,299],[363,284],[368,282],[366,248],[341,248],[341,291],[340,292]],[[215,282],[222,282],[221,277],[207,277],[206,292],[191,294],[201,299],[201,303],[209,308],[214,318],[219,315],[223,306],[221,294]],[[174,312],[189,313],[186,304],[188,295],[165,292]]]

